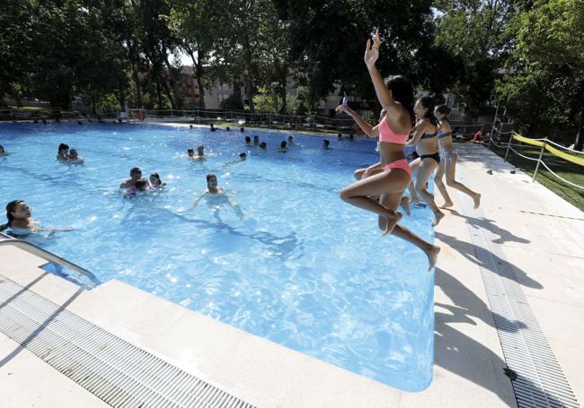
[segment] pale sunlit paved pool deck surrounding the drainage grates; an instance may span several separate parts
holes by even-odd
[[[450,190],[456,207],[436,229],[442,252],[435,379],[420,393],[397,391],[123,282],[79,291],[20,249],[0,247],[0,275],[258,407],[517,406],[482,281],[491,266],[480,249],[492,265],[512,268],[581,404],[584,213],[520,171],[510,174],[509,164],[482,146],[460,145],[459,153],[458,178],[482,193],[482,205],[473,210],[468,197]],[[0,334],[0,406],[107,405]]]

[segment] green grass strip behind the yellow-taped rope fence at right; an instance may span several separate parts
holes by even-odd
[[[532,157],[537,159],[539,157],[540,148],[532,146],[521,146],[515,147],[515,150],[525,155],[526,157]],[[491,145],[491,151],[500,155],[500,157],[505,157],[505,149],[495,147]],[[580,155],[582,156],[582,155]],[[513,164],[515,167],[522,169],[526,174],[533,177],[535,171],[536,161],[529,161],[523,157],[518,156],[513,151],[509,150],[509,155],[507,161]],[[558,176],[565,178],[571,183],[577,184],[584,187],[584,166],[572,163],[571,161],[565,161],[562,158],[554,156],[550,152],[544,152],[542,156],[542,161],[544,161],[550,169],[553,170]],[[535,178],[537,182],[543,186],[552,190],[555,194],[560,195],[564,200],[573,204],[574,206],[580,208],[584,211],[584,189],[578,187],[572,187],[569,184],[564,183],[559,178],[553,176],[544,166],[540,165],[537,170],[537,177]]]

